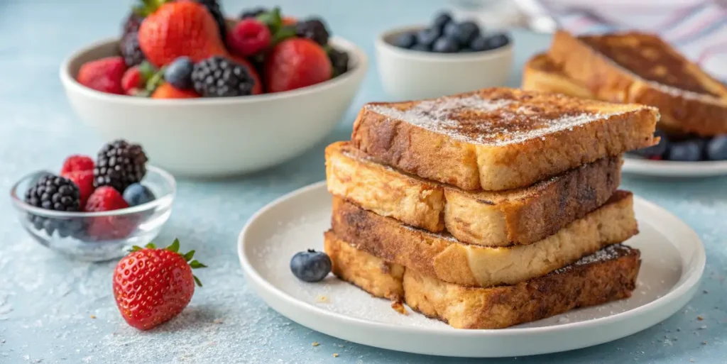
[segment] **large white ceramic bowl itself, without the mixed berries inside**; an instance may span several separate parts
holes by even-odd
[[[177,175],[219,177],[265,169],[300,155],[339,123],[366,74],[366,54],[350,41],[350,70],[321,84],[246,97],[152,100],[79,84],[84,62],[116,55],[117,40],[84,47],[60,68],[73,110],[105,139],[141,143],[150,161]]]

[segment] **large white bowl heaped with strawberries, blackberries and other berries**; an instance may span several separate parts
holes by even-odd
[[[366,54],[319,17],[260,8],[225,19],[215,0],[139,1],[119,39],[80,49],[60,78],[84,122],[141,142],[174,174],[299,155],[340,122],[366,73]]]

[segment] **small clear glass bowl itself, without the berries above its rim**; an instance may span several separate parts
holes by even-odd
[[[127,209],[103,212],[65,212],[40,209],[23,201],[27,191],[47,171],[36,171],[12,186],[10,198],[20,224],[39,243],[73,259],[103,262],[126,254],[156,238],[172,214],[177,182],[172,174],[147,166],[142,185],[156,200]]]

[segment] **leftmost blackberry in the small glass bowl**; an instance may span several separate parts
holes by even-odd
[[[81,211],[79,187],[65,177],[44,174],[25,191],[25,203],[46,210]],[[57,232],[62,238],[74,235],[84,229],[83,218],[43,217],[29,213],[28,221],[36,230],[45,230],[48,235]]]

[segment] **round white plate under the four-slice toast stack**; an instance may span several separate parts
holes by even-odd
[[[290,258],[321,250],[332,198],[325,182],[284,195],[257,212],[238,240],[245,278],[281,315],[313,330],[372,347],[429,355],[507,357],[561,352],[602,344],[655,325],[694,296],[704,271],[696,233],[659,206],[635,198],[640,234],[627,241],[641,250],[638,286],[630,299],[574,310],[499,330],[451,328],[329,275],[297,280]]]

